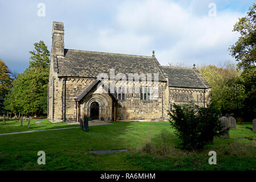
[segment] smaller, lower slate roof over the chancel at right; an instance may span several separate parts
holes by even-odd
[[[195,68],[161,66],[168,76],[169,86],[180,88],[210,88],[204,77]]]

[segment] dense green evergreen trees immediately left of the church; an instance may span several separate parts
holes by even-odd
[[[30,51],[29,68],[18,74],[13,89],[7,95],[5,108],[22,114],[45,114],[47,112],[47,85],[50,70],[50,52],[40,41]]]

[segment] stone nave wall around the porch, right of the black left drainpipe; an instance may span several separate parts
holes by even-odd
[[[66,121],[74,122],[76,119],[76,102],[75,98],[79,96],[94,80],[92,79],[80,79],[78,78],[68,78],[66,81]],[[121,84],[119,81],[116,81],[116,85]],[[129,84],[134,85],[135,82],[129,82]],[[137,84],[137,83],[136,83]],[[139,88],[143,83],[139,82]],[[151,85],[152,86],[152,85]],[[99,94],[95,89],[92,89],[90,93],[87,95],[92,97],[92,95],[98,94],[101,98],[101,102],[107,102],[108,105],[104,105],[101,107],[105,107],[104,110],[100,111],[100,117],[108,117],[112,119],[112,103],[108,94]],[[149,101],[141,101],[140,100],[140,92],[139,93],[127,93],[125,101],[119,101],[116,105],[116,115],[117,119],[139,119],[141,121],[159,121],[160,119],[167,119],[168,114],[166,110],[168,110],[168,87],[166,86],[166,82],[159,83],[159,93],[158,97],[154,100]],[[79,106],[79,115],[82,117],[83,113],[86,112],[88,117],[90,117],[90,111],[88,110],[90,105],[86,104],[86,100],[90,100],[90,98],[84,98]],[[100,101],[97,100],[100,104]],[[85,108],[87,107],[87,108]]]

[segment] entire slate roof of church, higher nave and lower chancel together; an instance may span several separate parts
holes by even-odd
[[[99,73],[115,69],[115,75],[124,73],[159,73],[159,81],[166,81],[177,88],[210,88],[204,77],[195,68],[161,66],[155,56],[125,55],[94,51],[64,49],[64,57],[54,58],[54,71],[58,77],[97,78]]]

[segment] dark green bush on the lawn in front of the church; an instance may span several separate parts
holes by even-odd
[[[176,105],[169,111],[170,126],[182,140],[181,146],[187,150],[201,149],[205,144],[213,142],[214,137],[227,132],[222,126],[219,112],[213,104],[199,107],[194,104]]]

